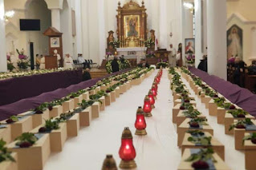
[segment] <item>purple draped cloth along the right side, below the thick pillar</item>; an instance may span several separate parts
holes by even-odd
[[[217,90],[218,93],[221,93],[228,100],[256,117],[256,95],[254,93],[251,93],[248,89],[234,85],[229,81],[224,81],[220,77],[210,76],[200,69],[191,67],[189,70],[197,77],[201,77],[202,81],[205,81],[205,83]]]

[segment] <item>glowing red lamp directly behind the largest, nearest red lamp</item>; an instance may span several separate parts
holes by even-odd
[[[135,134],[138,136],[147,135],[147,131],[145,129],[147,127],[147,124],[146,124],[144,116],[145,116],[145,113],[144,113],[143,109],[141,107],[139,107],[136,112],[136,121],[134,124],[135,128],[136,128]]]

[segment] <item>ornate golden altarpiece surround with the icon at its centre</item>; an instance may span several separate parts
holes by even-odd
[[[122,7],[118,3],[117,30],[120,48],[144,47],[147,39],[147,17],[144,1],[140,6],[137,2],[130,1]]]

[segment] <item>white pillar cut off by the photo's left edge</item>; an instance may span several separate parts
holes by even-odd
[[[6,28],[5,28],[5,8],[3,0],[0,0],[0,72],[7,71],[7,61],[6,61]]]

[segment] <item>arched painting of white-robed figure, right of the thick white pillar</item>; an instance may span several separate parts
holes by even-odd
[[[242,57],[242,29],[237,25],[227,30],[227,59],[230,57]]]

